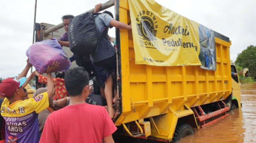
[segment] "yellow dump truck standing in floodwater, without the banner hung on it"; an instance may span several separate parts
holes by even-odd
[[[131,22],[128,0],[115,1],[115,14],[117,20]],[[199,129],[227,116],[226,104],[231,99],[240,107],[239,81],[231,77],[231,41],[214,34],[216,71],[200,66],[135,64],[132,32],[116,30],[118,99],[114,122],[119,134],[179,141],[193,134],[191,127]]]

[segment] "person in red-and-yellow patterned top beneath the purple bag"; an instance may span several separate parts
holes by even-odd
[[[56,78],[52,78],[55,85],[55,95],[53,96],[53,100],[62,99],[68,97],[68,92],[65,87],[64,82],[64,72],[57,72]],[[42,84],[47,84],[47,77],[35,71],[35,75],[38,76],[38,82]]]

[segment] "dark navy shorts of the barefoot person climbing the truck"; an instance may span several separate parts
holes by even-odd
[[[116,55],[102,61],[92,63],[97,74],[96,76],[100,78],[101,82],[105,82],[113,72],[116,73]]]

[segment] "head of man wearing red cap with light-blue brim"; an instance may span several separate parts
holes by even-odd
[[[12,77],[6,78],[0,84],[0,95],[8,99],[11,98],[25,98],[25,91],[22,85],[26,82],[27,78],[22,77],[19,80],[13,79]]]

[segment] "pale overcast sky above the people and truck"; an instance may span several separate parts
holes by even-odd
[[[65,14],[78,15],[104,0],[38,0],[36,23],[61,23]],[[232,41],[230,57],[256,45],[255,0],[156,0],[160,5],[215,30]],[[26,65],[32,45],[34,0],[0,1],[0,77],[14,77]],[[114,13],[114,7],[108,9]],[[109,32],[115,37],[114,28]]]

